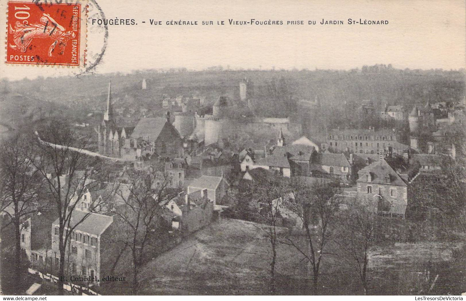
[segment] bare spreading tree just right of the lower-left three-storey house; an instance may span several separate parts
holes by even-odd
[[[140,268],[148,247],[158,240],[163,206],[178,194],[169,193],[171,177],[163,172],[163,167],[152,166],[145,170],[127,171],[130,182],[129,193],[117,189],[122,204],[112,209],[120,229],[114,241],[130,248],[133,264],[132,294],[138,292]],[[151,254],[154,257],[154,254]]]

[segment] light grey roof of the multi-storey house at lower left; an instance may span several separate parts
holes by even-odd
[[[93,235],[100,235],[113,222],[113,217],[111,216],[75,210],[71,214],[72,220],[70,221],[70,226],[75,226],[77,223],[81,221],[81,219],[86,214],[89,214],[88,217],[84,219],[82,223],[75,227],[75,231],[81,231]],[[58,223],[59,219],[55,219],[53,225],[58,225]]]

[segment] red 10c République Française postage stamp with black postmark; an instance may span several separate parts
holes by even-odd
[[[8,2],[7,63],[83,66],[85,7],[55,2]]]

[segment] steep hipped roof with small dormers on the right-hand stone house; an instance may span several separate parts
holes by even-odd
[[[392,186],[406,186],[406,183],[397,175],[391,166],[385,160],[380,160],[375,163],[369,164],[362,170],[358,171],[359,178],[357,182],[366,182],[366,175],[371,176],[371,182],[374,184],[392,185]],[[390,177],[390,184],[385,182],[386,177]]]

